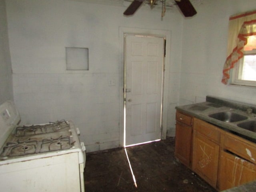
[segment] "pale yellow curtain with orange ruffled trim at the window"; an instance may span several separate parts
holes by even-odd
[[[248,36],[256,35],[256,10],[236,14],[229,18],[228,25],[228,50],[226,62],[222,71],[222,83],[227,84],[230,70],[244,54],[242,50],[247,44]]]

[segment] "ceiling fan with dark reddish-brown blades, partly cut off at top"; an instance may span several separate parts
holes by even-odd
[[[148,1],[150,3],[151,8],[154,6],[154,4],[158,0],[134,0],[130,6],[125,10],[124,15],[130,16],[133,15],[138,8],[145,2]],[[161,0],[160,0],[161,1]],[[191,4],[189,0],[174,0],[178,7],[180,8],[180,11],[185,17],[192,17],[196,14],[196,10]],[[162,5],[164,9],[165,0],[162,0]]]

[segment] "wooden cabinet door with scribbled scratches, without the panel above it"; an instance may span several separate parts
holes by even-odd
[[[192,169],[216,188],[220,146],[205,136],[194,133]]]

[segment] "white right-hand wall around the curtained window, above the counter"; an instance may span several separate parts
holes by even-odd
[[[255,0],[205,0],[196,17],[184,20],[180,105],[204,101],[206,95],[256,104],[256,88],[221,83],[229,16],[255,9]]]

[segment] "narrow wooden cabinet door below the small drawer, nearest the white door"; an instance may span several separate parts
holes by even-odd
[[[175,156],[190,167],[192,127],[176,122]]]

